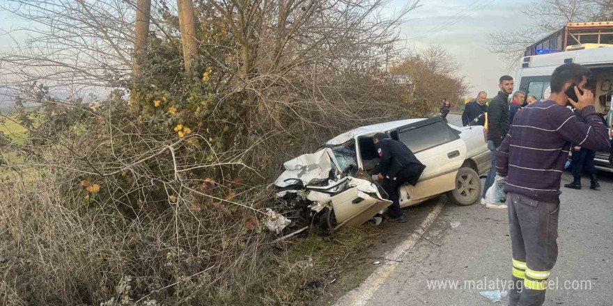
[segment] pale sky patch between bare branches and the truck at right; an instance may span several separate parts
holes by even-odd
[[[405,3],[394,0],[392,6],[399,9]],[[410,20],[402,26],[401,34],[408,39],[407,47],[419,51],[430,44],[442,46],[460,63],[460,73],[472,86],[469,97],[476,97],[481,90],[488,92],[488,97],[497,95],[498,79],[508,72],[506,63],[489,51],[488,34],[528,26],[530,19],[520,10],[532,0],[422,0],[420,3],[421,8],[410,12]],[[473,10],[479,7],[481,9]],[[472,15],[466,16],[470,13]],[[462,18],[458,18],[460,16]],[[457,22],[442,26],[456,18]],[[415,37],[415,33],[436,30],[437,26],[442,26],[440,31]],[[512,72],[511,76],[514,74]]]

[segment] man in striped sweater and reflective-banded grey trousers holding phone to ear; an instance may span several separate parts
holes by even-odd
[[[531,104],[515,118],[496,153],[498,175],[506,177],[513,253],[510,306],[540,306],[558,255],[556,239],[560,182],[571,143],[598,152],[609,150],[609,136],[585,88],[591,71],[570,63],[551,77],[548,101]],[[577,84],[577,86],[575,86]],[[574,88],[577,102],[565,91]],[[566,106],[582,114],[580,121]]]

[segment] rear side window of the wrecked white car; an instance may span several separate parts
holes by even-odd
[[[459,136],[453,134],[447,124],[436,122],[414,129],[400,129],[398,131],[398,138],[412,152],[417,153],[449,143],[451,140],[459,138]]]

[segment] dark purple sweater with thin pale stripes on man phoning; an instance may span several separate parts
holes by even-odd
[[[530,104],[515,115],[509,134],[496,152],[498,175],[507,177],[506,192],[544,202],[559,202],[560,181],[571,143],[609,152],[607,127],[593,106],[583,121],[553,101]]]

